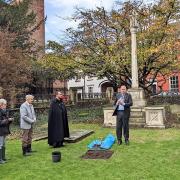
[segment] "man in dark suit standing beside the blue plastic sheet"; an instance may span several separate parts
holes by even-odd
[[[113,116],[117,116],[116,119],[116,135],[118,144],[122,144],[122,129],[125,139],[125,144],[129,144],[129,117],[130,117],[130,106],[132,106],[132,97],[127,93],[125,85],[121,85],[116,95],[114,105],[116,109]]]

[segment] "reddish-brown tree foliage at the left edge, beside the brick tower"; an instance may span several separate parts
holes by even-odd
[[[12,99],[20,86],[30,82],[31,63],[21,49],[11,46],[10,39],[13,40],[14,35],[0,32],[0,87],[2,94]]]

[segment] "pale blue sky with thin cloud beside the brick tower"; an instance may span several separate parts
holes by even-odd
[[[63,31],[68,27],[76,27],[74,21],[67,21],[63,18],[70,17],[75,12],[75,7],[94,9],[97,6],[110,10],[114,0],[45,0],[46,41],[63,40]]]

